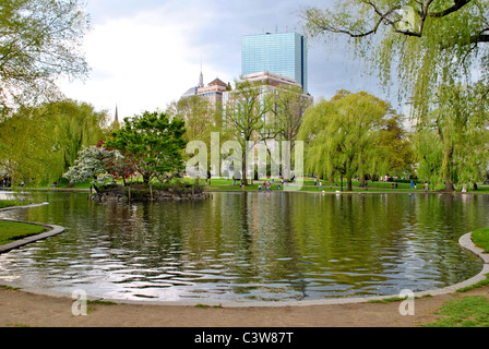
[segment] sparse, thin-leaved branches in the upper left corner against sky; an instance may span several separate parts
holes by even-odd
[[[3,0],[0,5],[0,118],[57,93],[60,77],[86,76],[80,50],[88,16],[77,0]]]

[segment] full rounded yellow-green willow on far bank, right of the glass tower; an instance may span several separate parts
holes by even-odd
[[[375,157],[374,146],[389,111],[389,104],[377,97],[345,91],[308,108],[298,134],[307,145],[306,170],[330,180],[338,173],[351,191],[353,177],[365,173]]]

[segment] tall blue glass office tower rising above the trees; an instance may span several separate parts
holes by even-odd
[[[308,93],[308,48],[298,33],[247,35],[241,40],[241,74],[269,71],[294,79]]]

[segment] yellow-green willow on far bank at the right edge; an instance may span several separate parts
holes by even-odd
[[[431,182],[444,181],[445,191],[454,183],[484,180],[488,168],[489,132],[484,91],[469,86],[442,86],[437,94],[439,108],[430,113],[415,134],[418,172]]]

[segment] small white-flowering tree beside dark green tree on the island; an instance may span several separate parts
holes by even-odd
[[[108,151],[105,147],[84,147],[79,153],[79,158],[75,160],[75,166],[70,167],[69,171],[64,173],[70,182],[79,183],[87,180],[93,180],[97,193],[100,191],[97,185],[108,183],[114,180],[114,174],[110,174],[110,167],[115,164],[121,164],[123,156],[119,151]]]

